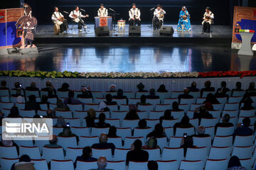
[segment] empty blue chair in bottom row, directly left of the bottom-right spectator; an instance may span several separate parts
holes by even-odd
[[[212,160],[208,159],[206,161],[206,168],[205,170],[226,170],[228,168],[228,159],[218,159]]]

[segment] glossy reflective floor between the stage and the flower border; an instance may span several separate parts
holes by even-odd
[[[230,45],[40,44],[38,55],[0,57],[1,70],[78,72],[210,72],[255,70],[256,54]]]

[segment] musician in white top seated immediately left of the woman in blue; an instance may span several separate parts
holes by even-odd
[[[161,25],[164,23],[164,15],[166,11],[161,7],[161,5],[157,5],[154,11],[154,18],[153,18],[153,27],[154,30],[160,29]]]

